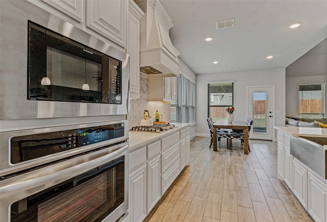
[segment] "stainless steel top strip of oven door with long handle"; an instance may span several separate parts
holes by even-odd
[[[10,205],[122,156],[125,156],[125,171],[128,170],[128,142],[115,148],[110,146],[110,149],[98,150],[0,181],[1,203],[8,201]]]

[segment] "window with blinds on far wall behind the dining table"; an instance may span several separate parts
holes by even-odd
[[[233,87],[233,82],[208,83],[208,117],[227,119],[226,108],[233,106]]]

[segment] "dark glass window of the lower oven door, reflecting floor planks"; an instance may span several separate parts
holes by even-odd
[[[124,202],[120,157],[11,205],[11,221],[102,221]]]

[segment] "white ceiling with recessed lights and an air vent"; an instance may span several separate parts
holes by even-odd
[[[172,18],[179,58],[196,74],[286,68],[327,37],[326,0],[160,2]],[[230,18],[234,27],[216,30],[216,21]]]

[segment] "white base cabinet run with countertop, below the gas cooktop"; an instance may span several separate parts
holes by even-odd
[[[143,221],[190,162],[190,126],[129,131],[129,219]]]

